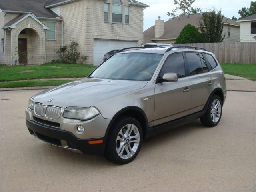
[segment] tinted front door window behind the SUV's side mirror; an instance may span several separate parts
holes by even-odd
[[[163,77],[165,73],[176,73],[178,78],[185,77],[185,65],[182,53],[171,55],[166,59],[160,77]]]

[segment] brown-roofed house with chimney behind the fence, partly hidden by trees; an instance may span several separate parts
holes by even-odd
[[[200,32],[200,21],[202,21],[202,14],[191,14],[180,16],[164,22],[158,17],[155,21],[155,25],[144,31],[144,43],[174,43],[182,29],[191,24],[196,26]],[[222,20],[223,34],[225,38],[223,42],[239,42],[240,36],[240,23],[224,17]]]

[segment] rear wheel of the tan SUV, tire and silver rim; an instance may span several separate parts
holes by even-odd
[[[206,113],[200,118],[204,126],[214,127],[218,125],[222,116],[222,101],[218,95],[212,96]]]

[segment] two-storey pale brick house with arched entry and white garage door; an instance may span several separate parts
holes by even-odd
[[[141,46],[146,7],[136,0],[0,0],[0,64],[56,60],[74,38],[86,64],[98,65],[112,49]]]

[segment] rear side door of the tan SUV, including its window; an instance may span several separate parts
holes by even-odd
[[[186,52],[185,55],[191,82],[191,102],[188,114],[192,114],[204,108],[213,90],[213,77],[202,53]]]

